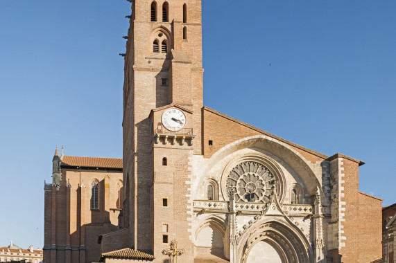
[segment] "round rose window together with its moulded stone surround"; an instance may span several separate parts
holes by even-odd
[[[267,156],[257,154],[243,156],[228,163],[221,178],[221,192],[225,200],[231,190],[238,203],[265,203],[284,198],[284,174],[280,167]],[[265,210],[265,209],[264,209]]]

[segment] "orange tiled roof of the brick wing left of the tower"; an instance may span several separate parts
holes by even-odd
[[[122,169],[122,158],[64,156],[62,165]]]

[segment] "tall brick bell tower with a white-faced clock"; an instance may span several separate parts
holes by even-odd
[[[129,17],[129,16],[128,16]],[[200,0],[133,0],[123,85],[121,225],[163,262],[172,239],[193,262],[192,156],[202,154]],[[182,259],[183,258],[183,259]]]

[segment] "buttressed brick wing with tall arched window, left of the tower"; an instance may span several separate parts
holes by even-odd
[[[44,185],[44,262],[97,262],[101,255],[98,237],[118,228],[121,210],[122,165],[119,159],[96,158],[104,163],[64,163],[73,156],[53,161],[53,183]],[[86,160],[85,160],[86,161]],[[92,165],[100,165],[99,167]],[[98,183],[98,208],[91,207],[92,183]]]

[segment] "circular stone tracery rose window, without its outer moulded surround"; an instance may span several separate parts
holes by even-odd
[[[232,189],[236,201],[267,203],[273,197],[275,177],[260,163],[243,162],[228,175],[227,192]]]

